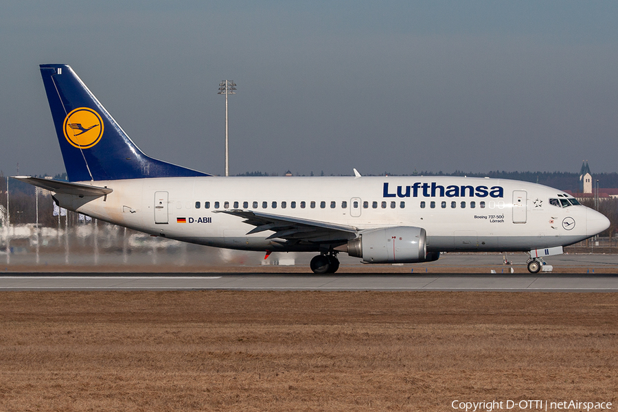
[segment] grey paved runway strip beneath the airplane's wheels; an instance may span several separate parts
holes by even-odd
[[[299,275],[297,273],[22,273],[0,276],[1,290],[323,290],[618,292],[618,275],[439,274]]]

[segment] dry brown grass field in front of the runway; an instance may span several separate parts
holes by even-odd
[[[6,292],[0,328],[8,412],[618,402],[615,294]]]

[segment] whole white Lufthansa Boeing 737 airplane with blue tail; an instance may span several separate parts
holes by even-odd
[[[527,269],[595,236],[608,218],[544,185],[453,176],[222,177],[148,157],[69,65],[40,65],[69,181],[15,176],[66,209],[183,242],[338,253],[368,264],[442,252],[527,252]]]

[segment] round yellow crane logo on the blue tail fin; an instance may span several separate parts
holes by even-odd
[[[78,149],[91,148],[101,140],[103,119],[91,108],[76,108],[65,117],[64,130],[72,146]]]

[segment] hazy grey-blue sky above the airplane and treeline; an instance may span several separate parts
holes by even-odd
[[[618,171],[616,1],[0,1],[0,170],[64,172],[67,63],[146,154],[205,172]]]

